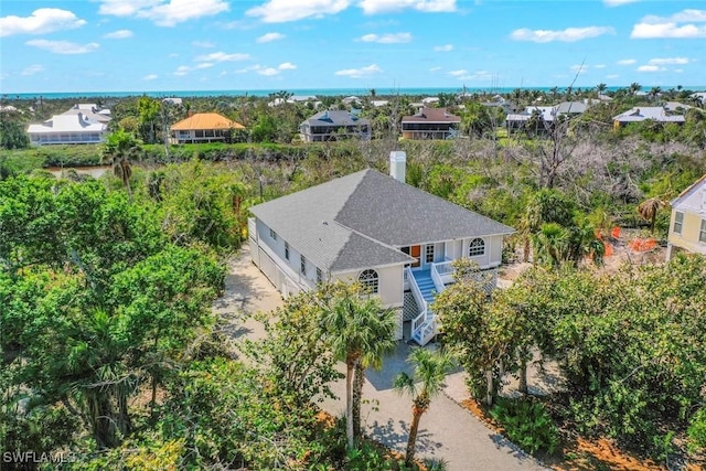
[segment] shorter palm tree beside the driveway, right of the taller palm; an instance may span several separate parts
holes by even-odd
[[[443,379],[451,367],[451,360],[443,352],[419,347],[411,351],[407,362],[414,365],[414,376],[407,373],[397,375],[395,390],[400,395],[411,396],[411,425],[405,456],[405,464],[409,467],[415,459],[419,419],[429,409],[431,399],[441,393]]]

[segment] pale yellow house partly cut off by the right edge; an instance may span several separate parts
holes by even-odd
[[[666,259],[674,249],[706,255],[706,175],[672,201]]]

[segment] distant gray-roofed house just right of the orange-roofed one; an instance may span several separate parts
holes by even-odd
[[[370,140],[371,122],[356,114],[344,110],[325,110],[313,115],[299,125],[299,133],[304,142],[334,141],[359,138]]]

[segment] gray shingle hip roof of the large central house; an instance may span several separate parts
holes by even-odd
[[[371,169],[250,211],[307,259],[332,271],[411,261],[397,247],[514,232]]]

